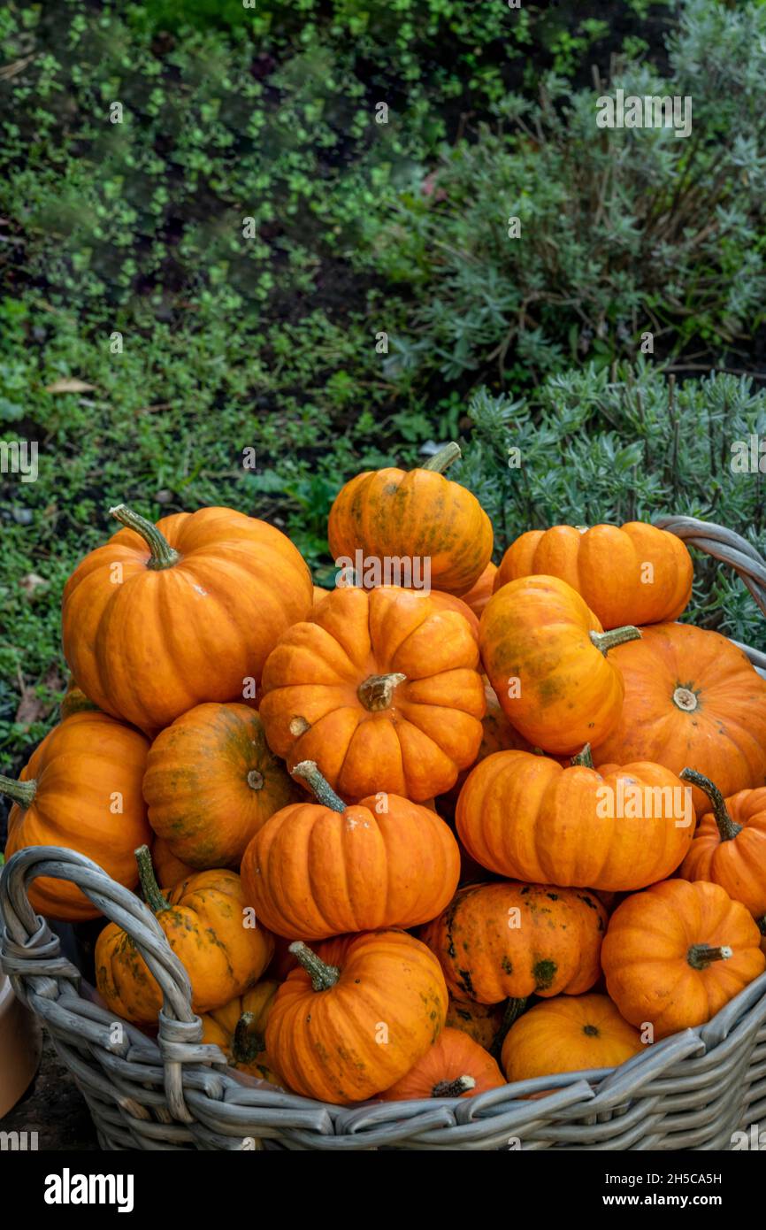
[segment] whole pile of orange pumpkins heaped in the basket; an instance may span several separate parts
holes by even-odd
[[[766,968],[766,681],[675,622],[686,547],[557,525],[496,567],[456,451],[330,515],[336,560],[419,558],[425,589],[317,589],[229,508],[112,509],[64,590],[63,720],[0,779],[6,856],[66,846],[140,892],[203,1039],[331,1103],[612,1068]],[[30,897],[98,916],[64,881]],[[116,924],[96,977],[156,1028]]]

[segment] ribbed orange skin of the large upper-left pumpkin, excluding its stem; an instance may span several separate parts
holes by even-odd
[[[64,654],[100,708],[151,734],[200,701],[241,700],[282,632],[311,611],[311,576],[279,530],[231,508],[164,517],[181,558],[148,568],[132,529],[82,560],[64,588]],[[122,583],[113,581],[122,567]]]

